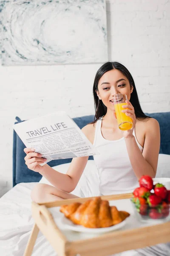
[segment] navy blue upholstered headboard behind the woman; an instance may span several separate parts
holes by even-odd
[[[158,120],[161,130],[161,146],[159,153],[161,154],[170,154],[170,112],[165,113],[151,113],[148,114]],[[15,124],[22,122],[20,118],[16,117],[17,122]],[[88,123],[94,120],[94,116],[82,116],[73,118],[74,122],[77,123],[79,128],[81,129]],[[20,182],[38,182],[41,179],[41,175],[38,172],[33,172],[29,170],[25,164],[24,157],[26,156],[23,149],[25,145],[20,140],[18,135],[14,131],[14,139],[13,139],[13,186]],[[89,157],[89,159],[93,159],[93,157]],[[48,164],[49,166],[57,166],[63,163],[70,163],[71,158],[69,159],[60,159],[60,160],[52,160]]]

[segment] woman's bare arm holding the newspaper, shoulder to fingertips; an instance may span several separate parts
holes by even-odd
[[[94,131],[94,125],[91,124],[82,128],[82,132],[88,140],[91,141],[91,143],[93,143],[94,140]],[[26,157],[24,159],[26,160],[28,169],[34,172],[39,172],[53,186],[65,192],[72,192],[75,189],[88,161],[88,157],[73,158],[67,173],[62,174],[48,166],[48,164],[40,166],[40,163],[44,163],[45,160],[42,158],[41,154],[35,153],[34,149],[24,148],[24,151],[26,153]]]

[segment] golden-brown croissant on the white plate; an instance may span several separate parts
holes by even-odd
[[[60,212],[74,224],[88,228],[111,227],[125,220],[130,214],[118,211],[115,206],[110,206],[108,201],[100,197],[88,200],[85,203],[62,205]]]

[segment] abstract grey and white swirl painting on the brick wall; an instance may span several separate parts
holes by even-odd
[[[0,51],[6,66],[105,62],[105,1],[0,1]]]

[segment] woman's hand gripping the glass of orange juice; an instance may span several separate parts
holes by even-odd
[[[128,138],[128,137],[133,137],[133,130],[136,125],[136,116],[135,116],[135,111],[132,106],[132,104],[126,100],[126,105],[123,105],[122,108],[127,108],[123,110],[122,112],[125,113],[127,116],[129,116],[132,119],[133,126],[130,130],[123,131],[123,137]]]

